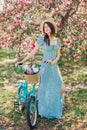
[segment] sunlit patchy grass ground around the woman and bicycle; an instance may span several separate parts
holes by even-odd
[[[29,130],[26,110],[22,113],[14,108],[17,100],[17,81],[22,76],[14,71],[14,63],[9,56],[12,51],[0,50],[0,130]],[[5,63],[5,64],[4,64]],[[66,86],[87,85],[87,67],[82,63],[67,63],[60,67]],[[52,119],[39,119],[37,130],[86,130],[87,89],[76,89],[65,96],[63,122]]]

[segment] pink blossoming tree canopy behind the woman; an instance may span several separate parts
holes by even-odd
[[[62,41],[62,61],[87,56],[86,0],[7,0],[0,13],[0,47],[29,45],[40,23],[53,18]]]

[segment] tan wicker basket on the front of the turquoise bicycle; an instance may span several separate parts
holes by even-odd
[[[39,79],[39,73],[33,74],[33,75],[27,75],[24,74],[24,79],[30,84],[30,83],[38,83]]]

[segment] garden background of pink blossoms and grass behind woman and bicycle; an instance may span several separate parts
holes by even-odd
[[[14,108],[17,82],[15,63],[41,34],[40,23],[53,18],[62,42],[58,61],[68,92],[63,122],[40,119],[37,130],[87,129],[87,1],[0,0],[0,130],[29,130],[25,111]],[[36,54],[40,62],[42,52]]]

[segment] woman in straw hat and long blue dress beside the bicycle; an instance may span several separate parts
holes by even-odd
[[[64,82],[57,65],[61,43],[60,39],[55,37],[57,27],[54,22],[45,20],[41,26],[43,35],[38,38],[36,47],[17,64],[32,58],[40,46],[42,47],[43,59],[38,89],[39,115],[46,118],[61,119],[65,92]]]

